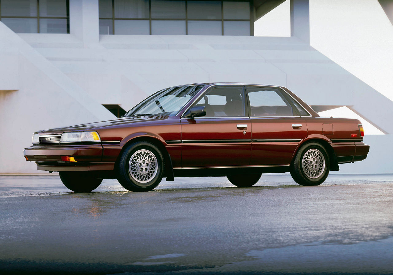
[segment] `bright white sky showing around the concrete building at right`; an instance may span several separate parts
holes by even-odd
[[[289,5],[286,0],[257,20],[254,35],[290,36]],[[393,25],[378,0],[310,0],[310,44],[393,100]],[[359,119],[346,107],[320,115]],[[383,134],[360,120],[365,134]]]

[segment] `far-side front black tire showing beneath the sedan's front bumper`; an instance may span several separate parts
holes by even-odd
[[[102,182],[102,178],[96,178],[88,171],[63,171],[59,175],[64,186],[75,193],[93,191]]]

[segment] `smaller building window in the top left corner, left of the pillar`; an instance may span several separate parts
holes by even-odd
[[[0,20],[15,33],[70,33],[69,0],[0,0]]]

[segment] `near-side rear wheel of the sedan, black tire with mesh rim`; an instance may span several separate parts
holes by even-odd
[[[298,184],[316,186],[325,181],[329,175],[329,167],[330,160],[326,149],[317,142],[310,142],[301,146],[296,153],[290,173]]]

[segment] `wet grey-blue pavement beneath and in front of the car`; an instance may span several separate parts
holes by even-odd
[[[0,272],[392,274],[392,194],[392,174],[176,178],[144,193],[104,180],[79,194],[57,176],[0,176]]]

